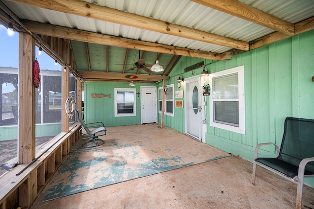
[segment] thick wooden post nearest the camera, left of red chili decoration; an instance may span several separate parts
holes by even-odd
[[[35,41],[27,33],[19,33],[19,163],[35,159],[35,87],[33,63]]]

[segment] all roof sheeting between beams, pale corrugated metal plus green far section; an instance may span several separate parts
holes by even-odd
[[[90,3],[129,12],[160,21],[183,25],[197,30],[234,38],[246,42],[265,36],[274,30],[252,23],[235,16],[211,9],[190,0],[86,0]],[[290,23],[298,23],[314,15],[314,0],[239,0],[266,13],[272,14]],[[230,47],[218,46],[201,41],[194,41],[178,36],[144,30],[117,23],[94,20],[82,16],[56,12],[48,9],[36,8],[20,3],[4,1],[9,8],[21,19],[51,23],[80,30],[102,33],[116,37],[142,40],[169,46],[187,47],[190,49],[223,53]],[[72,41],[76,52],[79,70],[88,70],[85,44]],[[89,44],[92,70],[104,71],[106,67],[106,47]],[[124,63],[125,48],[109,47],[109,70],[121,72]],[[146,64],[153,64],[156,52],[147,52]],[[101,58],[101,61],[97,61]],[[169,62],[172,55],[163,55],[160,62]],[[163,60],[162,60],[163,59]],[[130,49],[128,63],[138,60],[138,50]],[[130,66],[129,66],[130,67]],[[126,70],[129,68],[126,67]]]

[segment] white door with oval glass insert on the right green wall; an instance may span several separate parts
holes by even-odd
[[[202,106],[200,101],[200,81],[199,78],[186,81],[185,86],[185,130],[186,134],[201,140],[202,129]]]

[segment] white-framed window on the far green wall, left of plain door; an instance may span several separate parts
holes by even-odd
[[[136,116],[135,89],[114,89],[114,116]]]

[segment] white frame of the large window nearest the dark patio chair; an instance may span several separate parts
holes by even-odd
[[[215,90],[213,89],[214,87],[212,86],[212,80],[213,78],[216,77],[221,77],[221,76],[226,76],[229,74],[238,74],[238,98],[237,99],[213,99],[212,98],[212,92]],[[225,129],[228,131],[236,132],[239,134],[245,134],[245,101],[244,101],[244,66],[239,66],[236,68],[228,69],[228,70],[223,70],[219,72],[215,72],[212,74],[209,74],[209,85],[211,87],[211,94],[209,96],[209,125],[221,129]],[[214,101],[238,101],[239,104],[239,127],[233,126],[233,125],[228,125],[228,124],[223,124],[223,123],[218,123],[214,122]]]

